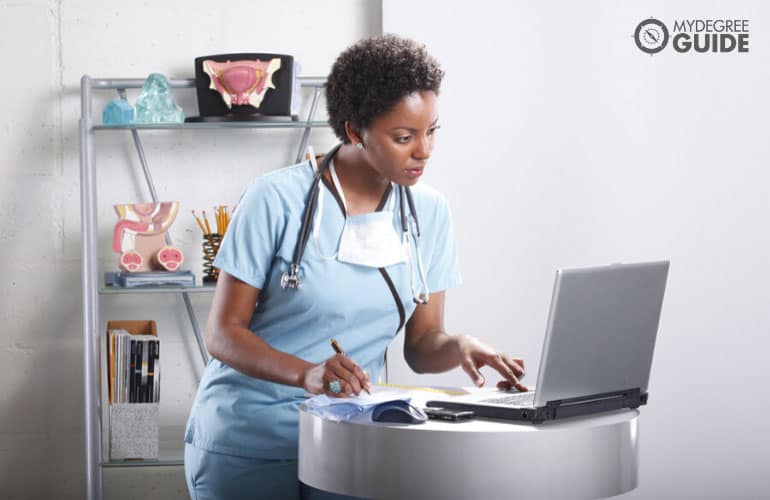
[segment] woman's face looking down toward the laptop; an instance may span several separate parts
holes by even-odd
[[[438,129],[438,96],[414,92],[372,121],[361,134],[365,161],[381,176],[411,186],[422,176]]]

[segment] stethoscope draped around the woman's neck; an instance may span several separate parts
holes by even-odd
[[[300,279],[300,262],[302,261],[302,255],[305,253],[305,247],[307,246],[308,239],[310,237],[312,229],[313,213],[318,208],[318,196],[321,178],[323,172],[329,167],[334,155],[337,154],[342,144],[336,145],[329,153],[321,160],[319,168],[315,168],[313,165],[313,153],[310,153],[310,165],[316,171],[313,177],[313,182],[310,185],[310,190],[307,193],[307,201],[305,202],[305,210],[302,213],[302,224],[299,229],[299,237],[297,238],[297,244],[294,246],[294,254],[289,265],[289,270],[281,275],[281,288],[284,290],[296,290],[301,283]],[[417,304],[427,304],[430,291],[428,290],[428,280],[425,276],[425,269],[422,264],[422,255],[420,253],[420,223],[417,220],[417,211],[414,207],[414,199],[412,198],[412,191],[407,186],[398,186],[399,189],[399,214],[401,219],[401,243],[404,248],[410,248],[410,233],[414,233],[414,249],[417,255],[417,273],[419,274],[422,291],[418,292],[415,287],[414,280],[414,266],[412,265],[412,254],[407,251],[407,260],[409,263],[409,286],[412,290],[412,298]],[[406,213],[404,206],[404,200],[409,205],[409,215],[411,215],[411,221]]]

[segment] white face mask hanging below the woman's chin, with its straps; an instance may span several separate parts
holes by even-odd
[[[337,260],[367,267],[387,267],[406,262],[406,249],[393,227],[395,196],[391,196],[391,203],[389,203],[387,210],[350,217],[347,215],[348,205],[337,172],[334,169],[334,162],[329,163],[329,172],[332,181],[334,181],[334,187],[337,188],[342,200],[342,206],[345,208],[345,226],[342,228]],[[318,227],[321,223],[320,215],[323,211],[322,199],[323,193],[319,193],[319,205],[313,235],[316,245],[318,244]]]

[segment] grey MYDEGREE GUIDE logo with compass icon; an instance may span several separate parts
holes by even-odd
[[[675,52],[743,53],[749,51],[748,19],[681,19],[669,32],[663,21],[650,17],[634,30],[636,46],[644,53],[657,54],[671,41]]]

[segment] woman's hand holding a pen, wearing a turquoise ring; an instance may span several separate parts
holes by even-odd
[[[334,393],[330,383],[338,380],[340,392]],[[330,398],[358,396],[366,388],[371,391],[369,374],[355,361],[342,354],[336,354],[321,364],[308,369],[302,378],[302,387],[311,394],[326,394]]]

